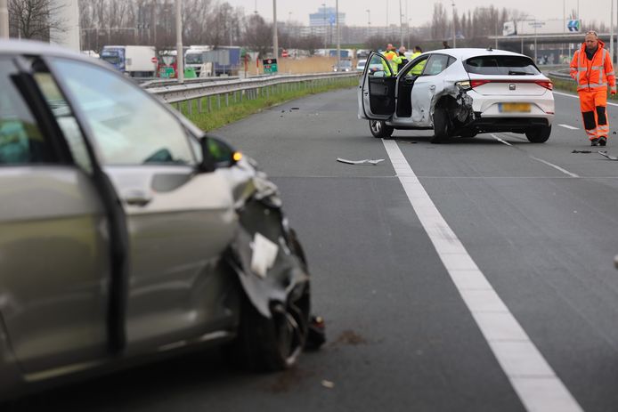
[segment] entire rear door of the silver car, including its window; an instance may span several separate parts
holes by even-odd
[[[0,55],[0,325],[36,380],[106,358],[111,244],[93,176],[23,61]]]

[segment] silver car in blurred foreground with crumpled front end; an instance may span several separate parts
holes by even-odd
[[[107,65],[0,42],[0,398],[224,343],[297,361],[305,256],[277,188]]]

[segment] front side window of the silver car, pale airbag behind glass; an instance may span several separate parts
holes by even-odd
[[[195,165],[178,119],[137,86],[89,63],[54,59],[53,65],[83,111],[104,165]]]

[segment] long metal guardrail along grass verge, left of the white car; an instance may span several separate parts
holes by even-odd
[[[185,83],[184,85],[167,85],[160,87],[150,87],[147,92],[159,96],[167,103],[179,103],[181,101],[199,100],[209,96],[229,95],[230,93],[240,92],[240,99],[243,94],[249,94],[249,98],[259,95],[260,90],[264,89],[264,94],[270,93],[269,87],[274,85],[304,85],[313,87],[317,83],[331,82],[337,78],[358,77],[360,72],[346,73],[318,73],[313,75],[285,75],[269,77],[251,77],[245,79],[222,80],[208,83]],[[235,97],[234,97],[235,98]],[[189,105],[191,108],[191,105]]]

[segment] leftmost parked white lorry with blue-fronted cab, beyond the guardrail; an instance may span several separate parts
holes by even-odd
[[[157,56],[151,45],[106,45],[101,59],[130,77],[154,77]]]

